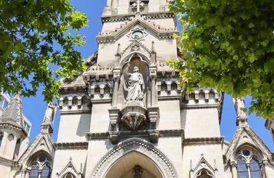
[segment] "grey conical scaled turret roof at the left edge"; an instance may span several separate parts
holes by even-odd
[[[12,122],[23,127],[23,111],[20,94],[15,94],[10,103],[8,103],[8,107],[0,116],[0,123],[1,122]]]

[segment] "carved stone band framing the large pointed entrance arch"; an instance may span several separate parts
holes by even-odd
[[[110,151],[101,158],[90,177],[105,177],[108,170],[117,160],[128,153],[132,153],[132,151],[147,156],[151,162],[158,166],[163,177],[177,177],[175,168],[166,155],[155,148],[153,144],[140,138],[130,138],[110,149]]]

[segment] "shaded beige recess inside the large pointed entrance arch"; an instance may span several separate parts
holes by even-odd
[[[137,167],[137,170],[136,170]],[[105,178],[126,178],[141,174],[142,177],[161,178],[159,168],[142,153],[132,151],[121,157],[105,175]]]

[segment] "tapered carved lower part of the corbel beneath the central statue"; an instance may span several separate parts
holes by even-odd
[[[145,120],[146,120],[146,116],[138,112],[128,112],[121,118],[121,121],[125,123],[132,130],[138,129],[138,127]]]

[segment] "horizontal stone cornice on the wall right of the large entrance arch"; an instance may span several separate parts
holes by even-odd
[[[205,138],[185,138],[184,144],[222,144],[223,137],[205,137]]]

